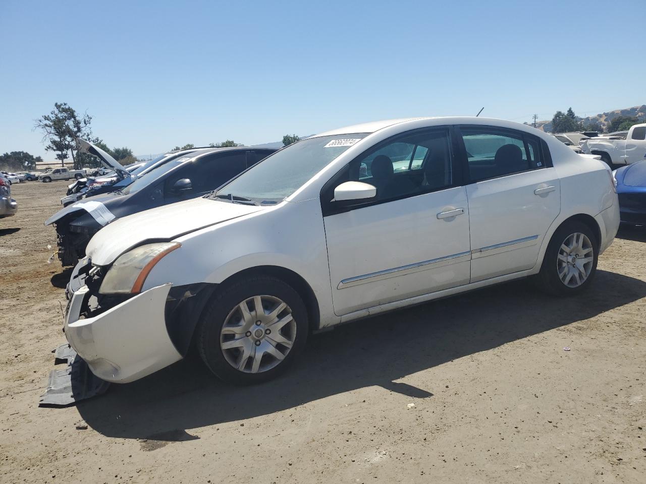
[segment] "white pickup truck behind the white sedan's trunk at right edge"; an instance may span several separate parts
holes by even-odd
[[[581,142],[581,150],[601,156],[610,167],[637,163],[646,159],[646,123],[632,126],[625,138],[599,136],[585,139]]]

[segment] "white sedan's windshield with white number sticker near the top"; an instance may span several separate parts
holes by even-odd
[[[303,139],[270,155],[211,197],[282,201],[368,133]]]

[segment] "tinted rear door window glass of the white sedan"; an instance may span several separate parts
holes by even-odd
[[[545,166],[533,136],[485,126],[463,126],[461,132],[472,182]]]

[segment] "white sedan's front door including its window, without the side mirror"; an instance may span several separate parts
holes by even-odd
[[[337,315],[468,283],[468,204],[452,152],[448,130],[398,136],[324,188]],[[377,198],[335,207],[333,188],[348,180],[375,185]]]

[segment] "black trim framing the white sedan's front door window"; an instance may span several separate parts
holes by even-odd
[[[403,133],[396,134],[394,136],[391,136],[389,138],[386,138],[379,143],[370,146],[369,148],[366,148],[363,152],[361,152],[359,155],[355,156],[353,159],[348,161],[346,165],[342,166],[342,168],[336,172],[333,176],[330,177],[330,179],[323,185],[323,187],[320,190],[319,198],[320,198],[320,204],[321,204],[321,211],[324,217],[335,215],[335,214],[342,214],[344,212],[351,212],[352,210],[359,210],[360,208],[366,208],[366,207],[373,207],[374,205],[381,205],[382,203],[390,203],[393,201],[398,201],[406,198],[412,198],[412,197],[417,197],[421,195],[426,195],[429,193],[433,192],[440,192],[442,190],[448,190],[449,188],[455,188],[455,187],[461,187],[464,185],[464,172],[463,172],[463,163],[460,162],[459,156],[458,156],[458,150],[459,150],[459,144],[458,144],[458,136],[455,134],[454,130],[455,126],[453,125],[438,125],[438,126],[426,126],[424,128],[416,128],[414,130],[409,130]],[[344,207],[341,207],[339,205],[335,205],[333,201],[331,200],[326,200],[324,194],[331,188],[331,187],[336,187],[339,178],[344,175],[344,172],[348,169],[349,165],[355,161],[358,161],[370,154],[370,152],[378,151],[381,148],[383,148],[386,145],[389,145],[390,143],[396,143],[397,141],[401,139],[406,139],[411,136],[416,136],[417,134],[424,133],[424,132],[433,132],[433,131],[444,131],[446,134],[448,134],[449,137],[449,149],[450,149],[450,159],[451,159],[451,174],[452,174],[452,184],[451,185],[446,185],[445,187],[440,187],[440,188],[434,188],[432,190],[423,190],[421,192],[415,192],[412,194],[404,194],[401,196],[397,197],[390,197],[387,199],[382,199],[382,200],[376,200],[376,201],[367,201],[364,203],[357,203],[356,205],[346,205]],[[462,138],[459,137],[461,140]],[[414,151],[414,150],[413,150]],[[428,153],[426,154],[428,156]],[[426,156],[424,156],[424,162],[426,161]],[[410,163],[412,163],[413,157],[411,157]],[[409,164],[410,166],[410,164]],[[423,165],[422,165],[423,166]],[[421,168],[423,169],[423,168]]]

